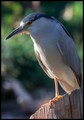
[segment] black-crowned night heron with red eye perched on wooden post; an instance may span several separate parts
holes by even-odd
[[[61,97],[57,81],[67,93],[81,87],[80,58],[70,34],[61,22],[45,13],[31,13],[6,39],[19,33],[30,34],[39,64],[55,80],[56,96],[50,100],[50,105]]]

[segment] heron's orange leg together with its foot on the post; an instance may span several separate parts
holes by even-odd
[[[52,103],[54,100],[56,100],[56,99],[62,97],[61,95],[59,95],[57,78],[54,77],[54,79],[55,79],[56,95],[55,95],[55,98],[53,98],[52,100],[50,100],[50,101],[48,102],[50,106],[51,106],[51,103]],[[48,103],[46,103],[46,104],[48,104]],[[46,104],[43,104],[42,106],[45,106]]]

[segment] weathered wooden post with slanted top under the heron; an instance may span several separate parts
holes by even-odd
[[[81,119],[83,118],[83,88],[72,91],[41,107],[30,119]]]

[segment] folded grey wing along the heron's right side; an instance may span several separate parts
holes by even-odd
[[[79,86],[81,86],[81,64],[74,41],[69,37],[61,26],[58,27],[60,37],[57,36],[57,46],[65,63],[73,70]]]

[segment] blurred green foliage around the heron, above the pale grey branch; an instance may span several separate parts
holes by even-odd
[[[59,19],[75,41],[83,71],[83,2],[82,1],[41,1],[40,8]],[[67,10],[70,13],[67,14]],[[27,14],[34,12],[31,1],[1,2],[1,70],[2,80],[16,77],[28,90],[37,87],[51,87],[53,82],[38,64],[29,35],[17,35],[4,39]],[[70,15],[69,15],[70,14]],[[17,26],[18,25],[18,26]]]

